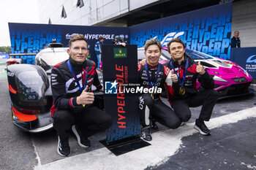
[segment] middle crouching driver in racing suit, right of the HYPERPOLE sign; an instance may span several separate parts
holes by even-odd
[[[161,43],[156,39],[150,39],[145,45],[146,64],[138,63],[139,83],[144,88],[162,88],[173,90],[171,87],[170,69],[159,63],[162,53]],[[140,123],[142,125],[141,137],[151,141],[150,128],[152,120],[156,120],[168,128],[178,128],[181,120],[159,98],[159,93],[145,93],[139,97]]]

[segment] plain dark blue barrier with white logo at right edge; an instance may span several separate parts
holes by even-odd
[[[256,79],[256,47],[231,48],[231,59]]]

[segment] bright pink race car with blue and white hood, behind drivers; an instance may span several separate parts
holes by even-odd
[[[219,99],[253,92],[252,89],[249,89],[252,76],[238,64],[196,50],[186,49],[185,53],[192,56],[195,62],[200,61],[201,65],[214,77],[214,90],[219,92]],[[138,48],[138,61],[145,58],[144,49]],[[167,47],[163,47],[159,63],[167,63],[170,58]],[[197,89],[200,90],[200,82],[197,82]]]

